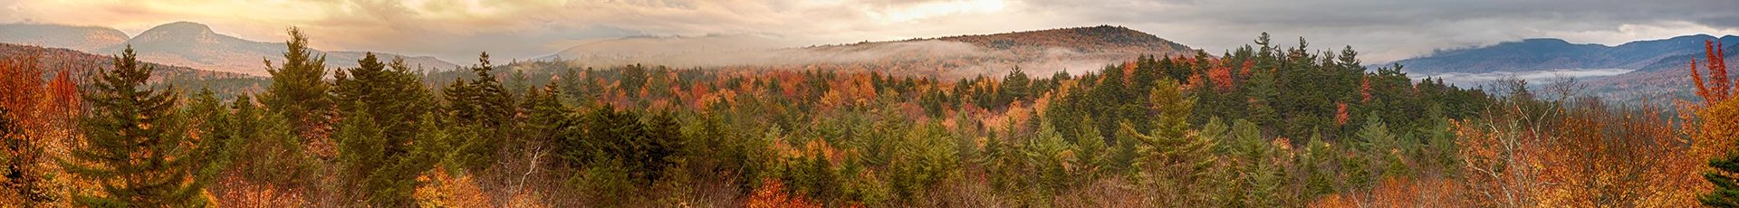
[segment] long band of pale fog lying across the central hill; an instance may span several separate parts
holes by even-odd
[[[852,66],[861,62],[866,69],[880,69],[894,75],[939,75],[943,78],[1003,75],[1012,68],[1021,68],[1031,76],[1049,76],[1064,69],[1078,75],[1132,57],[1134,55],[1108,52],[1076,52],[1073,49],[983,49],[972,43],[944,40],[864,42],[798,49],[685,50],[663,54],[577,54],[569,50],[560,55],[560,59],[567,61],[570,66],[591,68],[659,64],[671,68],[770,66],[805,69],[807,66],[817,66],[838,68],[835,71],[852,71]]]

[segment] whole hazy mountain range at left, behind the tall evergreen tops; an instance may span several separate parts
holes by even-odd
[[[243,40],[216,33],[210,26],[186,21],[162,24],[132,38],[113,28],[0,24],[0,42],[73,49],[89,54],[120,54],[125,45],[132,45],[141,61],[252,76],[268,76],[266,64],[261,59],[283,62],[283,52],[287,50],[282,42]],[[327,68],[356,68],[356,59],[363,57],[363,52],[316,50],[316,54],[327,55]],[[428,55],[405,57],[379,52],[376,55],[383,59],[403,57],[407,64],[428,69],[457,68],[457,64]]]

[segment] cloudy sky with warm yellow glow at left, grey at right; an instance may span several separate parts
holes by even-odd
[[[623,36],[762,35],[769,47],[1047,28],[1129,26],[1209,52],[1268,31],[1365,62],[1522,38],[1624,43],[1739,33],[1739,0],[0,0],[0,23],[111,26],[172,21],[316,49],[532,59]]]

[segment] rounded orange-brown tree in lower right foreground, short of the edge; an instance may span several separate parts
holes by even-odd
[[[1577,99],[1563,116],[1553,154],[1542,158],[1546,179],[1556,182],[1542,192],[1548,206],[1694,206],[1685,194],[1661,187],[1696,182],[1696,165],[1683,159],[1673,125],[1659,121],[1659,109],[1614,109],[1593,97]],[[1689,179],[1689,180],[1687,180]]]

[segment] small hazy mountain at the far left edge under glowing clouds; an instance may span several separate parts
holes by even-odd
[[[64,47],[94,52],[127,42],[127,33],[101,26],[0,24],[0,42],[19,45]]]

